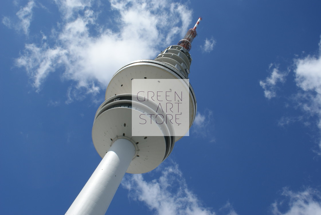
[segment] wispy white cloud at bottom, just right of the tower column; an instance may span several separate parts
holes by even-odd
[[[122,186],[128,189],[130,198],[144,202],[157,215],[216,214],[202,206],[197,196],[188,189],[177,164],[165,167],[160,177],[152,181],[146,181],[142,174],[126,175]],[[237,215],[229,203],[224,209],[226,214]]]

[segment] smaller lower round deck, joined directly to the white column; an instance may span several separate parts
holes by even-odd
[[[171,153],[175,137],[171,136],[170,125],[152,120],[151,129],[158,136],[132,136],[132,114],[155,113],[155,103],[142,104],[133,101],[136,95],[112,96],[98,108],[92,127],[92,141],[100,157],[104,157],[114,141],[119,138],[130,140],[135,146],[135,156],[127,173],[145,173],[155,169]],[[157,106],[157,105],[156,105]]]

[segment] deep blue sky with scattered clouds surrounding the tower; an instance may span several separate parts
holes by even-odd
[[[126,174],[107,214],[321,214],[321,2],[2,1],[0,213],[64,214],[101,158],[111,76],[199,16],[197,116],[157,169]]]

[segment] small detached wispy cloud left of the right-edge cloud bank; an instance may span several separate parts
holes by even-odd
[[[273,66],[270,64],[269,69]],[[271,75],[265,79],[265,81],[260,81],[260,86],[264,89],[264,96],[268,99],[271,99],[276,96],[277,83],[285,82],[285,77],[288,72],[280,72],[278,67],[274,67]]]

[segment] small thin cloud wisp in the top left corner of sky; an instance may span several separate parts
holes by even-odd
[[[34,1],[28,2],[28,4],[22,7],[17,13],[19,21],[17,23],[13,22],[10,18],[4,17],[2,23],[8,28],[13,28],[17,31],[22,31],[24,34],[29,34],[30,22],[32,20],[32,9],[35,6]]]

